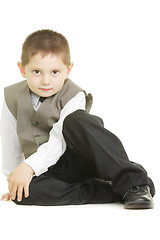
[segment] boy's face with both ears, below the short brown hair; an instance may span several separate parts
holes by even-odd
[[[50,97],[59,92],[72,66],[73,63],[67,67],[60,56],[49,54],[42,58],[40,53],[33,56],[24,68],[20,62],[18,63],[31,91],[41,97]]]

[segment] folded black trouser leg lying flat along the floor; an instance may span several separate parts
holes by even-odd
[[[82,183],[67,183],[45,173],[33,178],[28,198],[23,195],[21,202],[14,202],[18,205],[56,206],[112,203],[119,201],[119,198],[108,182],[95,178]]]

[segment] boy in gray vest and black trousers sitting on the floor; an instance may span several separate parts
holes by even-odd
[[[16,204],[65,205],[123,201],[153,208],[154,184],[130,162],[120,140],[89,114],[91,95],[68,79],[65,37],[30,34],[22,48],[22,82],[5,88],[1,117],[3,172]]]

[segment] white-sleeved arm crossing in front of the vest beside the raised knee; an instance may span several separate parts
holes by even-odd
[[[80,92],[72,98],[62,109],[59,121],[53,125],[48,142],[42,144],[36,153],[24,161],[34,170],[36,176],[46,172],[63,155],[66,150],[62,135],[63,121],[70,113],[78,109],[84,110],[85,103],[84,92]]]

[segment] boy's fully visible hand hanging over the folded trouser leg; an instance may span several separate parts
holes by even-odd
[[[22,200],[23,190],[24,196],[29,196],[29,184],[32,180],[33,174],[33,169],[26,163],[21,163],[10,173],[7,181],[12,200],[15,200],[17,195],[17,201],[20,202]]]

